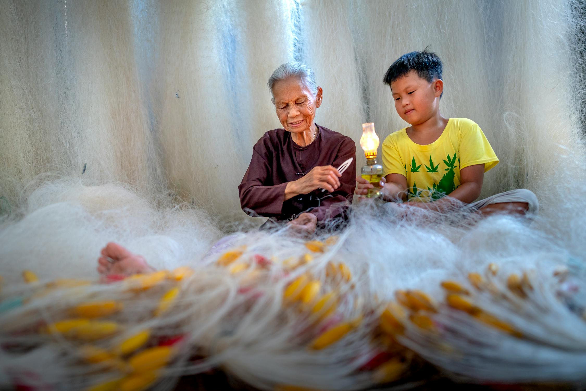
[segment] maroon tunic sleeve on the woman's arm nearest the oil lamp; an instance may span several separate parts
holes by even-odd
[[[340,164],[349,158],[354,159],[340,177],[340,187],[331,193],[331,198],[323,199],[318,207],[310,211],[318,218],[318,221],[342,215],[347,209],[347,202],[352,202],[352,196],[356,188],[356,144],[350,138],[347,138],[340,145],[332,166],[338,168]]]

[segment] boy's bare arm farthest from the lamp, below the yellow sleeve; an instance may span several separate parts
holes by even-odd
[[[414,202],[409,206],[437,210],[442,212],[449,209],[452,205],[452,199],[457,199],[464,203],[474,202],[482,190],[482,181],[484,180],[484,164],[475,164],[462,168],[460,170],[460,185],[453,192],[448,194],[448,198],[442,198],[435,202]]]

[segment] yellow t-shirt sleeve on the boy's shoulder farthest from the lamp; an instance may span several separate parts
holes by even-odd
[[[460,169],[475,164],[484,164],[484,172],[496,166],[499,158],[490,147],[478,124],[462,131],[460,138]]]

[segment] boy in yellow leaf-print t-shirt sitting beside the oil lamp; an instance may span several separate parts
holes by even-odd
[[[453,208],[456,199],[483,215],[537,213],[537,198],[526,189],[474,202],[481,193],[484,173],[499,159],[476,123],[441,115],[444,81],[437,55],[427,49],[407,53],[389,67],[383,81],[391,87],[397,113],[411,125],[383,142],[380,185],[384,199],[423,201],[399,205],[440,212]],[[359,195],[373,188],[360,177],[356,182]],[[446,195],[449,197],[444,198]]]

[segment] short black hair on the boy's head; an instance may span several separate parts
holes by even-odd
[[[430,82],[434,79],[441,79],[442,63],[440,57],[435,53],[428,52],[428,47],[425,47],[421,52],[411,52],[399,57],[384,74],[383,83],[390,86],[393,81],[400,79],[412,70],[417,72],[421,79]]]

